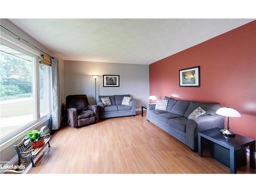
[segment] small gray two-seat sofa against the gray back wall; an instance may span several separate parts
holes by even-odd
[[[99,102],[97,103],[99,108],[99,117],[100,118],[109,118],[109,117],[120,117],[120,116],[130,116],[136,114],[136,101],[131,100],[130,105],[122,105],[123,97],[130,97],[130,95],[100,95]],[[101,98],[109,97],[111,100],[111,106],[104,106]]]

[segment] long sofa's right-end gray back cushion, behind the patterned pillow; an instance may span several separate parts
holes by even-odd
[[[197,101],[191,101],[184,117],[188,117],[199,106],[204,111],[206,111],[204,115],[215,115],[215,112],[220,108],[220,104],[218,103],[202,103]]]

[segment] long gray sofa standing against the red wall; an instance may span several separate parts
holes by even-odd
[[[198,131],[224,127],[224,117],[215,114],[220,108],[219,104],[176,100],[169,97],[164,99],[168,100],[167,111],[155,110],[156,104],[147,104],[146,119],[189,146],[192,151],[198,149]],[[199,106],[206,111],[205,115],[187,119]]]

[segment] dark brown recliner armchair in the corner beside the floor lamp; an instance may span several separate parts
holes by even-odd
[[[66,97],[68,124],[79,127],[98,121],[97,105],[89,105],[86,95],[69,95]]]

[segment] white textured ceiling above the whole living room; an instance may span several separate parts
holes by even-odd
[[[149,65],[254,19],[9,19],[64,60]]]

